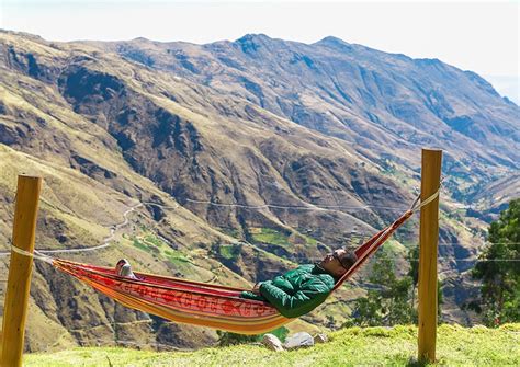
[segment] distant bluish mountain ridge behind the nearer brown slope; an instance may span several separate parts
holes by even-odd
[[[474,72],[438,59],[335,37],[306,45],[261,34],[201,46],[144,38],[94,44],[338,137],[369,159],[376,151],[380,160],[417,170],[420,147],[443,148],[454,191],[519,168],[518,106]]]

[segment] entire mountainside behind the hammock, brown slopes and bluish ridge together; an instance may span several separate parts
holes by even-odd
[[[486,223],[456,210],[482,187],[519,195],[508,181],[520,161],[518,106],[439,60],[334,37],[56,43],[3,31],[0,68],[2,243],[16,173],[37,173],[36,248],[94,246],[116,229],[102,250],[63,255],[108,266],[127,257],[142,271],[247,287],[395,218],[414,198],[420,148],[436,146],[445,150],[441,268],[460,274]],[[129,225],[116,226],[133,207]],[[417,243],[417,219],[396,239],[387,248],[402,257]],[[445,320],[468,318],[456,307],[467,294],[460,285],[446,283]],[[362,293],[344,287],[291,328],[338,326]],[[27,336],[31,351],[216,339],[127,310],[39,263]]]

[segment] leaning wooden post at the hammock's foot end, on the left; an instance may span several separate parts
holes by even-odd
[[[42,177],[19,175],[13,245],[33,253]],[[8,289],[3,306],[2,367],[22,366],[33,259],[11,250]]]

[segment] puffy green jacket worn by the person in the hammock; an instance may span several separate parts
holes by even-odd
[[[321,305],[335,286],[335,278],[317,265],[295,269],[260,284],[260,294],[244,291],[241,297],[270,302],[286,318],[297,318]]]

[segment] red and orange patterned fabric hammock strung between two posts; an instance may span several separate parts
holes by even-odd
[[[426,204],[426,203],[425,203]],[[409,217],[406,211],[355,250],[358,261],[336,284],[341,286]],[[53,265],[126,307],[188,324],[240,334],[259,334],[292,321],[271,305],[240,298],[244,290],[144,273],[138,279],[121,277],[114,268],[53,259]]]

